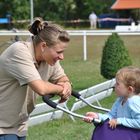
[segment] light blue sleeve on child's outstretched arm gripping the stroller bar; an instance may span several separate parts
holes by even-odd
[[[105,121],[106,119],[112,119],[112,118],[117,118],[117,108],[118,108],[118,104],[120,104],[120,98],[118,98],[115,103],[112,106],[112,109],[110,112],[106,113],[106,114],[102,114],[102,113],[98,113],[99,115],[99,119],[101,119],[102,121]]]

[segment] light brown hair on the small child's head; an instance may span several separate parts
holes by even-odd
[[[120,69],[116,73],[116,79],[122,81],[127,87],[132,86],[135,94],[140,93],[140,69],[128,66]]]

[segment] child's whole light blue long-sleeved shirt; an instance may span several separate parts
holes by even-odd
[[[99,119],[117,119],[117,124],[140,129],[140,96],[134,95],[122,105],[122,97],[117,98],[111,111],[107,114],[98,113]]]

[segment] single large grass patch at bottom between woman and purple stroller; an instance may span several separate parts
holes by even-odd
[[[89,124],[87,124],[89,125]],[[44,129],[46,128],[46,129]],[[74,129],[73,129],[74,128]],[[44,123],[35,126],[29,130],[29,140],[89,140],[92,134],[93,126],[88,127],[82,121],[72,122],[69,118],[63,118],[59,121]],[[40,130],[40,131],[39,131]],[[32,135],[34,132],[36,134]],[[82,134],[81,134],[82,133]],[[83,137],[84,135],[84,137]]]

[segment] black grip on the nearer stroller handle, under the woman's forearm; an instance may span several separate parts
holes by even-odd
[[[54,95],[45,95],[42,97],[43,101],[48,104],[49,106],[51,106],[52,108],[56,108],[57,107],[57,103],[53,102],[52,100],[50,100],[50,98],[52,98]]]

